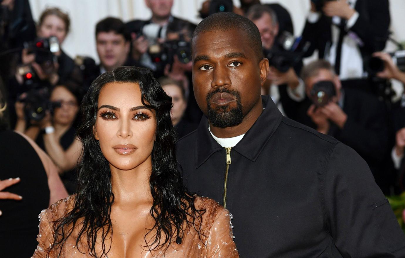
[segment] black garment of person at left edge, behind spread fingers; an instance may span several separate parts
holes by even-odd
[[[1,256],[31,257],[38,244],[38,214],[49,206],[47,174],[38,154],[21,135],[1,131],[0,142],[0,179],[21,178],[6,191],[23,196],[20,201],[0,200]]]

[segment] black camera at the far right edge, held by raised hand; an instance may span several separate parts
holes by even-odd
[[[405,72],[405,50],[399,50],[388,54],[392,57],[392,61],[394,61],[394,64],[399,70]],[[384,68],[384,61],[379,57],[368,57],[364,59],[364,70],[366,70],[371,76],[384,71]]]

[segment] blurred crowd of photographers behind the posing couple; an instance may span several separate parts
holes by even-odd
[[[145,0],[152,13],[147,20],[98,21],[88,37],[96,39],[99,62],[64,52],[71,23],[64,10],[48,7],[34,21],[28,0],[0,1],[0,103],[7,105],[1,128],[36,142],[70,194],[81,150],[79,107],[98,75],[118,66],[151,69],[173,99],[177,136],[197,128],[203,114],[192,87],[196,24],[173,16],[173,1]],[[252,20],[271,66],[262,95],[271,95],[283,115],[352,147],[383,192],[398,194],[405,190],[405,95],[395,94],[392,80],[405,84],[405,51],[391,38],[390,2],[307,1],[311,9],[301,33],[282,4],[241,0],[236,7],[232,0],[207,0],[199,13],[234,12]],[[382,52],[387,42],[397,50]]]

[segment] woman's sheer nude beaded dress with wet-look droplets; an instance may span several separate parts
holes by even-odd
[[[37,237],[38,247],[32,258],[47,257],[47,248],[53,242],[53,221],[58,220],[72,209],[73,202],[74,195],[52,204],[48,209],[41,212],[39,215],[39,234]],[[196,209],[206,209],[202,218],[202,234],[200,236],[198,236],[194,227],[191,226],[184,231],[181,244],[177,244],[174,240],[167,249],[161,248],[152,252],[145,250],[139,257],[239,258],[232,237],[232,224],[230,222],[230,214],[228,210],[224,209],[224,207],[220,206],[212,199],[204,197],[196,197],[194,205]],[[87,243],[83,245],[79,242],[79,246],[76,246],[76,238],[72,235],[68,237],[62,250],[52,250],[49,252],[49,257],[56,258],[58,257],[59,252],[61,254],[59,256],[60,258],[92,257],[87,251]],[[98,257],[100,257],[100,254],[98,254]],[[109,256],[108,253],[107,257],[116,258]]]

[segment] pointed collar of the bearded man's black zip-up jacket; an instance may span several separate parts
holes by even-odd
[[[283,117],[269,96],[262,96],[264,110],[242,140],[232,148],[246,159],[256,161],[267,141],[277,129]],[[203,116],[197,128],[195,166],[198,168],[222,146],[208,130],[208,119]],[[224,157],[225,159],[225,157]]]

